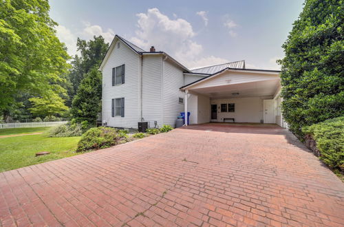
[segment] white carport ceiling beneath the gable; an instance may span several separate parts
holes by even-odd
[[[216,87],[202,87],[190,89],[190,91],[210,98],[244,98],[273,96],[278,87],[279,79],[274,79]],[[239,93],[239,95],[233,95],[233,93]]]

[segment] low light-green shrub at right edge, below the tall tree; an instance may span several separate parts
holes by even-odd
[[[344,116],[303,127],[302,130],[316,141],[320,159],[325,164],[344,169]]]

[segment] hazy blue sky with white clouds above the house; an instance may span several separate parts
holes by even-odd
[[[167,52],[186,67],[246,60],[247,68],[279,69],[281,45],[301,0],[79,1],[52,0],[50,15],[69,54],[76,38],[115,34]]]

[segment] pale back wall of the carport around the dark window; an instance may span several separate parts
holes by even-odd
[[[222,103],[235,103],[235,112],[221,112]],[[224,118],[235,118],[235,122],[256,122],[263,120],[263,98],[228,98],[213,99],[211,104],[217,104],[217,121]]]

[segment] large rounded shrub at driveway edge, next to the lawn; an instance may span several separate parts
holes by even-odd
[[[103,149],[114,146],[122,140],[116,129],[109,127],[92,128],[86,131],[78,142],[77,152]]]

